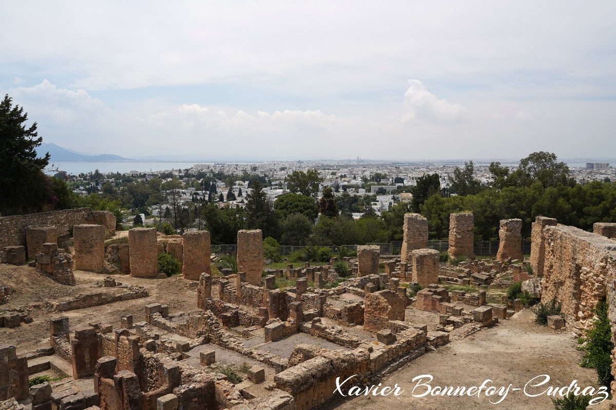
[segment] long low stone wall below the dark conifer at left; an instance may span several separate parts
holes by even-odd
[[[57,242],[57,237],[70,233],[71,226],[83,223],[94,223],[95,219],[98,220],[100,218],[100,216],[94,215],[99,215],[99,213],[102,212],[108,213],[107,211],[92,211],[90,208],[78,208],[29,213],[26,215],[2,216],[0,217],[0,248],[10,245],[27,246],[27,226],[54,226],[56,229],[56,237],[53,240],[44,240],[41,244],[45,242]],[[113,218],[113,229],[115,229],[115,217]],[[110,229],[110,227],[107,227],[107,229]],[[37,252],[40,252],[40,250],[34,249],[32,254]]]

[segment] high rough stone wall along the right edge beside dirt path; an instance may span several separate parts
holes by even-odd
[[[591,310],[606,297],[616,275],[616,241],[572,226],[546,226],[541,302],[562,302],[567,329],[580,333],[592,324]]]

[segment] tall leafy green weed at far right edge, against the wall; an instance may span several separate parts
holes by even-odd
[[[578,350],[584,352],[580,366],[592,368],[597,371],[598,382],[601,385],[610,387],[614,376],[612,376],[612,328],[607,318],[607,303],[599,302],[593,309],[595,318],[593,327],[584,331],[584,336],[578,339],[580,347]]]

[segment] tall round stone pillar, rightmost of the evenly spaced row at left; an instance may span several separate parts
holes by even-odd
[[[263,272],[263,234],[261,229],[237,232],[237,269],[246,272],[246,282],[261,285]]]

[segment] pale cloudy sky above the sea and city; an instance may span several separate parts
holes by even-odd
[[[0,2],[0,93],[78,152],[616,157],[616,2]]]

